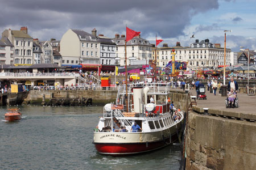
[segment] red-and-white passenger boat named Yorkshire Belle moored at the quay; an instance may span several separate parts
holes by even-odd
[[[105,105],[94,131],[96,150],[105,155],[129,155],[175,142],[184,115],[177,109],[176,120],[172,117],[169,95],[170,86],[166,83],[127,84],[127,92],[126,86],[119,86],[115,104]],[[156,102],[150,103],[150,97]],[[135,122],[142,130],[131,130]],[[127,131],[122,132],[122,126]]]

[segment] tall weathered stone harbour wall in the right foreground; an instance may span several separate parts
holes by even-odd
[[[188,113],[187,170],[256,169],[256,123],[221,114]]]

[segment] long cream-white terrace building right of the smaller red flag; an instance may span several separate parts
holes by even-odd
[[[219,44],[218,44],[219,45]],[[157,48],[156,57],[159,67],[164,67],[168,62],[172,60],[171,52],[175,49],[175,61],[177,62],[187,62],[187,67],[191,69],[196,69],[199,67],[215,67],[224,65],[224,48],[220,46],[215,46],[209,42],[208,39],[196,40],[195,43],[191,44],[189,47],[180,46],[177,43],[175,47],[168,48]],[[231,63],[231,50],[226,49],[226,65]],[[153,52],[153,59],[154,59]]]

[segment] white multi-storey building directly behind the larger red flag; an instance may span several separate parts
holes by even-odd
[[[115,65],[125,66],[125,35],[119,37],[115,35],[113,39],[116,44]],[[136,61],[148,61],[152,59],[152,45],[149,41],[142,39],[140,36],[134,37],[126,44],[127,65],[136,65]],[[141,62],[138,62],[138,64]]]

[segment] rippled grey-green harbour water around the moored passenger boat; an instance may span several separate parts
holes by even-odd
[[[0,169],[179,169],[180,146],[142,155],[98,154],[93,128],[102,107],[19,106],[23,120],[6,122],[0,108]]]

